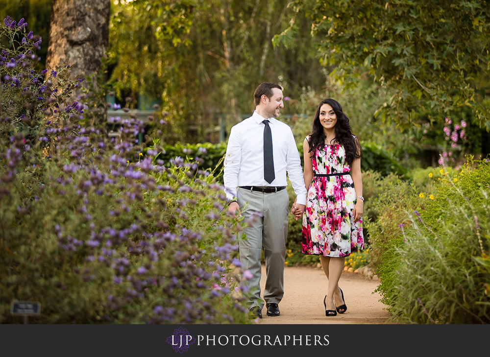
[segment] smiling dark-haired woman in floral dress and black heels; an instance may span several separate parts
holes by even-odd
[[[325,316],[336,316],[347,310],[338,284],[345,257],[364,249],[362,148],[336,100],[320,102],[313,132],[305,138],[303,151],[308,194],[301,251],[320,256],[328,279],[323,299]],[[301,216],[295,206],[292,213],[296,219]]]

